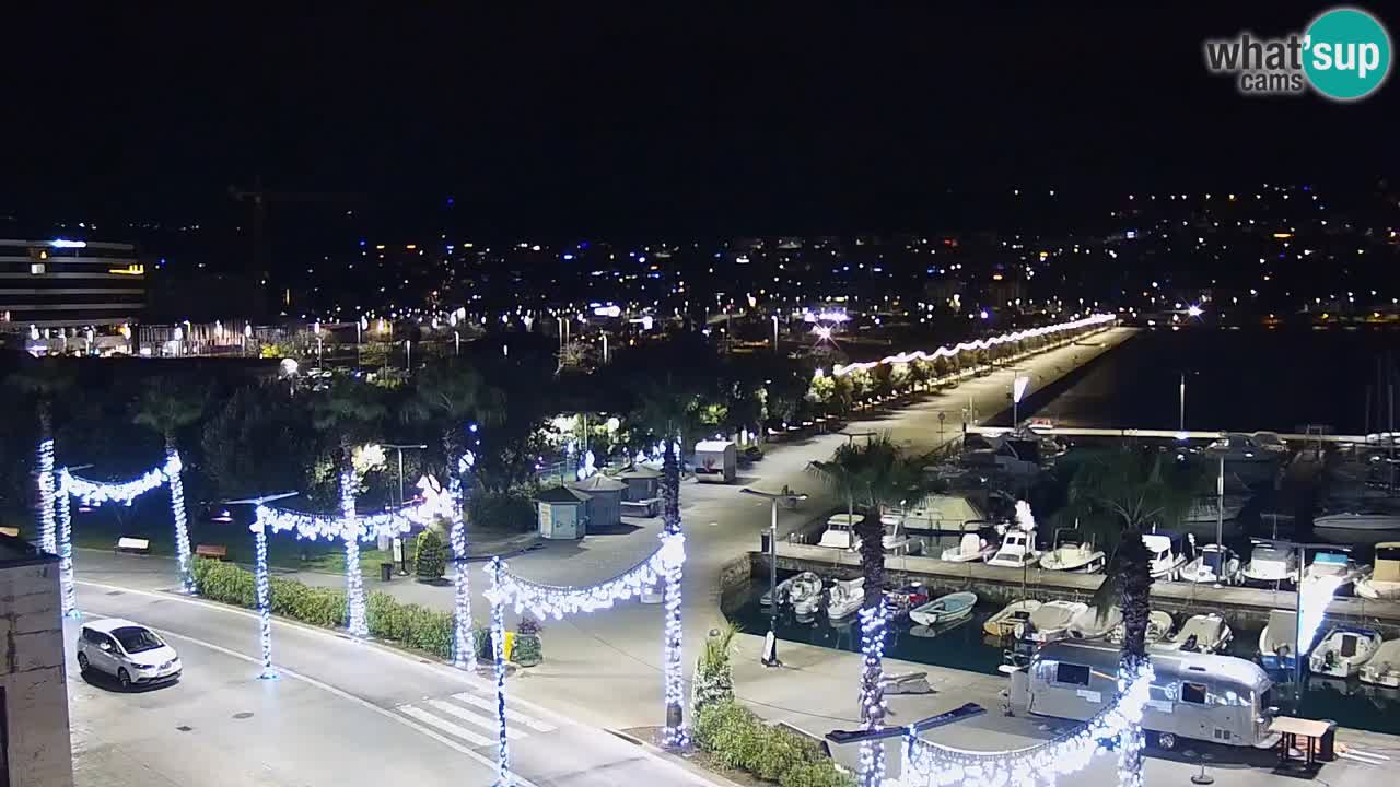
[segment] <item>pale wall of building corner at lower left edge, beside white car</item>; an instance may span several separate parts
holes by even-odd
[[[73,787],[57,559],[0,562],[10,784]]]

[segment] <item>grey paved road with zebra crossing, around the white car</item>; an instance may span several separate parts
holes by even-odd
[[[69,623],[83,787],[494,781],[487,681],[286,623],[274,626],[281,678],[260,681],[252,615],[88,581],[78,605],[88,618],[129,618],[162,632],[185,664],[178,683],[120,692],[99,675],[78,676],[78,623]],[[539,787],[704,784],[640,746],[525,703],[512,703],[507,728],[515,770]]]

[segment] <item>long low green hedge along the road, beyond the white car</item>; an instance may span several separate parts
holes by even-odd
[[[272,612],[314,626],[344,626],[346,594],[343,590],[312,587],[297,580],[269,578]],[[258,606],[253,573],[232,563],[199,559],[195,562],[195,588],[199,595],[246,606]],[[386,592],[371,592],[365,599],[370,636],[393,640],[430,653],[442,661],[452,660],[454,623],[451,612],[437,612],[419,604],[400,604]],[[477,655],[489,655],[487,634],[472,632]]]

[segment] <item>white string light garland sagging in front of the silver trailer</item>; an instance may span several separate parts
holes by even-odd
[[[1141,787],[1137,753],[1142,746],[1142,709],[1152,685],[1152,668],[1119,675],[1117,699],[1075,730],[1044,744],[1004,752],[970,752],[923,741],[910,727],[904,734],[906,787],[1005,787],[1054,784],[1060,776],[1082,770],[1100,751],[1119,752],[1119,783]]]

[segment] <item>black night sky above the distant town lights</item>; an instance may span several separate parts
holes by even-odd
[[[1326,3],[62,6],[7,24],[0,213],[197,217],[260,174],[482,228],[879,228],[1012,185],[1366,182],[1400,147],[1394,78],[1337,105],[1205,74],[1203,38]]]

